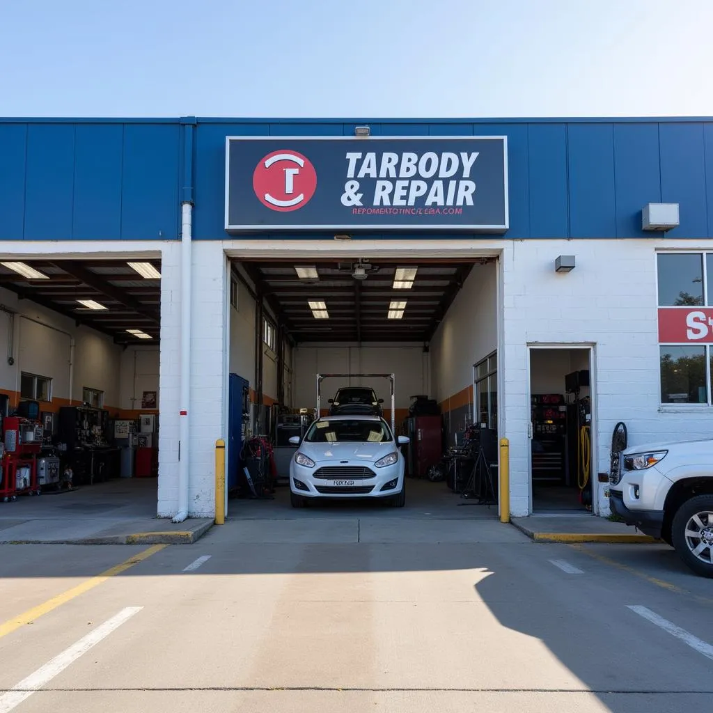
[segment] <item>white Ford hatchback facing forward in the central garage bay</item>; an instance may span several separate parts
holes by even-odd
[[[389,424],[379,416],[327,416],[309,427],[302,441],[289,439],[297,453],[289,463],[293,508],[313,498],[388,499],[395,508],[406,503],[406,459]]]

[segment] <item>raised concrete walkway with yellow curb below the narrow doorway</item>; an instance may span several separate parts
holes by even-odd
[[[530,515],[529,518],[512,518],[511,523],[535,542],[648,544],[660,541],[624,523],[589,513]]]

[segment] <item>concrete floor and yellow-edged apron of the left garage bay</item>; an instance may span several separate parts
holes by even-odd
[[[155,478],[128,478],[0,503],[0,543],[190,544],[210,529],[212,519],[157,518],[156,486]]]

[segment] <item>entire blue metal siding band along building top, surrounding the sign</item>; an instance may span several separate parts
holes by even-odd
[[[0,240],[173,240],[191,180],[194,237],[222,240],[227,135],[351,136],[359,123],[198,119],[189,177],[180,120],[0,120]],[[641,209],[657,201],[681,206],[668,237],[713,237],[712,120],[363,123],[373,135],[507,135],[505,237],[652,237]]]

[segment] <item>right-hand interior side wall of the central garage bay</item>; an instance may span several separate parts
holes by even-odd
[[[431,383],[446,434],[472,422],[473,364],[498,347],[498,263],[474,265],[431,340]]]

